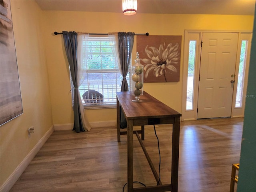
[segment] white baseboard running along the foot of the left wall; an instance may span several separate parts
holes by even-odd
[[[52,126],[46,134],[38,141],[38,143],[34,146],[34,148],[29,152],[29,154],[24,158],[24,160],[19,164],[19,166],[14,170],[14,172],[10,175],[10,177],[6,180],[6,182],[1,186],[1,192],[8,192],[21,174],[24,172],[26,167],[30,164],[33,158],[36,156],[40,148],[44,145],[46,140],[50,137],[53,133],[54,127]]]

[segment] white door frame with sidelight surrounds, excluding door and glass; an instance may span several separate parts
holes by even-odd
[[[198,104],[198,86],[199,86],[199,72],[200,72],[200,54],[201,54],[201,40],[203,32],[216,32],[216,33],[238,33],[238,51],[236,54],[236,70],[235,70],[235,83],[233,90],[233,99],[232,99],[232,109],[231,117],[243,117],[244,116],[244,102],[242,101],[242,107],[236,108],[236,87],[238,80],[238,66],[240,59],[240,50],[241,50],[241,41],[248,40],[248,51],[246,57],[246,70],[244,78],[244,97],[246,98],[246,86],[248,79],[248,66],[250,58],[250,45],[252,38],[252,31],[219,31],[219,30],[185,30],[184,31],[184,56],[183,56],[183,78],[182,78],[182,118],[181,120],[196,120],[197,119],[197,104]],[[193,92],[193,102],[192,110],[186,110],[186,96],[187,96],[187,81],[188,81],[188,51],[189,51],[189,41],[196,40],[196,57],[195,57],[195,66],[194,66],[194,92]]]

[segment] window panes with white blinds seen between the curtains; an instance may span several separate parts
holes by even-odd
[[[86,108],[114,107],[116,106],[116,92],[121,91],[122,75],[112,53],[112,44],[106,36],[88,39],[88,48],[85,50],[88,56],[83,59],[83,82],[79,87],[82,103]],[[129,88],[130,70],[131,67],[126,76]],[[92,93],[92,90],[98,92],[97,95],[100,96],[96,99],[86,98],[85,95],[88,97],[95,93]],[[89,95],[85,94],[88,91]]]

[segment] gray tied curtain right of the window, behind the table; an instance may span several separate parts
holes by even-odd
[[[134,42],[134,32],[118,32],[118,52],[121,64],[121,74],[123,76],[121,91],[129,91],[126,75],[129,70],[129,64],[132,56],[132,47]],[[120,128],[127,127],[127,122],[120,109]]]

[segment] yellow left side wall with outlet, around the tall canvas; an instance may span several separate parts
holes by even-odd
[[[24,113],[0,127],[1,187],[53,125],[42,11],[34,1],[11,1],[11,9]]]

